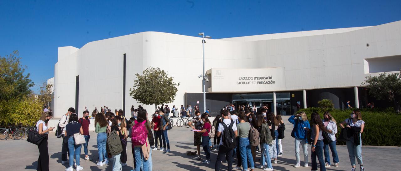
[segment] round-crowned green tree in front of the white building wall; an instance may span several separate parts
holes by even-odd
[[[176,97],[180,83],[173,82],[167,72],[160,68],[146,68],[142,75],[135,74],[134,87],[130,95],[139,103],[145,105],[160,105],[171,103]]]

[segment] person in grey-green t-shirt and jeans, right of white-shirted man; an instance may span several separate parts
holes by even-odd
[[[239,123],[237,124],[237,135],[239,137],[239,152],[241,154],[242,170],[248,170],[248,163],[250,164],[251,171],[255,169],[253,163],[253,157],[251,154],[251,144],[249,137],[251,136],[250,131],[253,131],[251,124],[245,121],[245,113],[241,111],[239,113]],[[258,133],[259,134],[259,133]],[[259,141],[259,137],[258,137]],[[238,159],[240,160],[240,159]]]

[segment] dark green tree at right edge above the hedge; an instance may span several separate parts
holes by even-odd
[[[401,70],[400,73],[367,76],[362,85],[369,88],[370,95],[379,100],[389,100],[395,111],[401,112]]]

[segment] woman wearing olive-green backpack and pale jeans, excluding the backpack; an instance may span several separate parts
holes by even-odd
[[[119,116],[115,116],[113,119],[113,122],[111,123],[111,131],[116,131],[117,134],[120,137],[121,140],[121,145],[123,146],[123,151],[117,155],[113,155],[113,171],[121,171],[122,170],[122,162],[121,162],[121,154],[126,152],[126,145],[127,143],[125,142],[125,147],[124,147],[124,142],[122,139],[124,139],[124,135],[122,134],[121,130],[121,122],[122,118]]]

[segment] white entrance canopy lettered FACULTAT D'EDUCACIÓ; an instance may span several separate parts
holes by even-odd
[[[284,68],[217,69],[206,72],[211,93],[280,91],[286,89]]]

